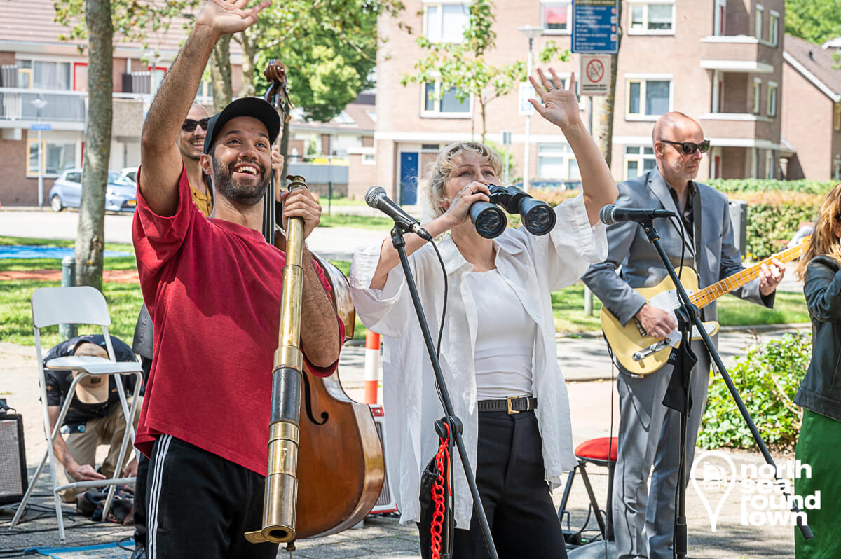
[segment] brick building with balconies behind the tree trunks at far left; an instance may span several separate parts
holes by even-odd
[[[0,203],[38,201],[38,140],[42,132],[44,198],[61,171],[82,166],[87,121],[87,52],[83,41],[58,39],[67,29],[53,21],[50,0],[6,0],[0,5]],[[160,84],[186,37],[182,20],[149,45],[114,42],[114,120],[109,167],[140,163],[140,129]],[[232,50],[234,50],[232,48]],[[241,55],[232,53],[239,89]],[[210,103],[203,84],[199,102]],[[37,108],[38,105],[42,108]]]

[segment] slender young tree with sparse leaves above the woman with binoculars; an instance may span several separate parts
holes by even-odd
[[[494,3],[491,0],[474,0],[470,3],[469,11],[468,26],[464,29],[461,43],[436,43],[426,37],[418,38],[417,44],[429,50],[429,54],[415,63],[416,73],[405,74],[400,83],[406,86],[410,83],[440,82],[437,99],[452,88],[455,88],[456,99],[461,103],[473,96],[479,103],[484,142],[488,103],[507,95],[517,83],[526,80],[526,64],[516,61],[494,66],[485,61],[485,53],[496,47]],[[557,60],[566,61],[569,60],[569,50],[561,52],[554,41],[548,41],[537,57],[542,62],[556,57]]]

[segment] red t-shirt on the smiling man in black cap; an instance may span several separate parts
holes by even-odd
[[[155,357],[135,446],[148,456],[166,433],[265,476],[285,254],[255,229],[205,218],[183,170],[178,196],[176,214],[161,217],[137,192],[132,236]],[[326,377],[336,364],[306,366]]]

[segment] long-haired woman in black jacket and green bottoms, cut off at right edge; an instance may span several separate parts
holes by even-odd
[[[797,266],[812,319],[812,362],[794,401],[803,408],[796,459],[812,467],[795,479],[802,498],[820,492],[820,509],[806,509],[815,537],[795,530],[798,559],[838,556],[837,504],[841,500],[838,455],[841,446],[841,184],[823,201],[812,242]],[[803,510],[803,507],[801,507]]]

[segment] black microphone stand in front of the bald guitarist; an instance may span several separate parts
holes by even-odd
[[[724,363],[722,362],[721,356],[718,355],[716,347],[712,345],[710,335],[706,333],[706,329],[701,323],[701,318],[698,314],[698,308],[690,301],[689,295],[686,293],[686,290],[684,289],[683,285],[681,285],[677,273],[674,272],[674,266],[672,266],[671,261],[669,261],[669,256],[666,256],[666,252],[663,249],[663,246],[660,245],[660,235],[654,229],[653,219],[643,219],[639,222],[639,224],[640,227],[642,227],[645,231],[645,234],[648,235],[648,240],[652,243],[652,245],[654,245],[654,249],[657,250],[657,253],[660,256],[660,260],[663,261],[663,265],[666,268],[666,272],[669,272],[669,277],[674,283],[675,290],[678,293],[680,307],[676,310],[675,314],[678,319],[678,330],[680,331],[682,339],[684,340],[684,342],[682,342],[681,345],[689,345],[688,342],[692,338],[692,326],[695,326],[698,332],[701,334],[701,339],[704,340],[706,350],[710,352],[711,359],[716,364],[718,372],[721,373],[722,379],[724,379],[724,382],[727,384],[727,390],[730,391],[730,395],[733,397],[733,401],[736,403],[739,413],[742,414],[742,418],[744,419],[745,424],[748,425],[750,434],[753,435],[756,445],[759,446],[759,452],[762,453],[765,462],[774,468],[775,479],[777,481],[780,481],[780,477],[777,476],[777,466],[774,462],[774,459],[771,457],[768,448],[765,446],[765,443],[762,440],[762,435],[759,435],[759,430],[756,428],[754,420],[751,419],[750,413],[745,407],[741,396],[739,396],[735,385],[733,385],[733,380],[727,373],[727,368],[724,367]],[[684,351],[689,351],[690,348],[682,347],[681,349]],[[682,372],[678,370],[678,367],[674,367],[674,370],[672,372],[673,375],[681,373]],[[678,467],[678,505],[674,519],[674,556],[677,556],[678,559],[684,559],[686,556],[686,417],[689,414],[691,382],[688,382],[688,384],[689,386],[686,387],[684,409],[679,410],[680,466]],[[785,498],[791,497],[791,495],[789,495],[789,493],[786,493],[785,491],[783,491],[783,495],[785,496]],[[803,524],[800,514],[797,514],[800,511],[797,508],[797,504],[794,502],[794,500],[791,501],[791,512],[794,513],[796,516],[797,527],[800,529],[803,537],[806,540],[811,540],[812,530],[809,529],[809,526],[807,524]]]

